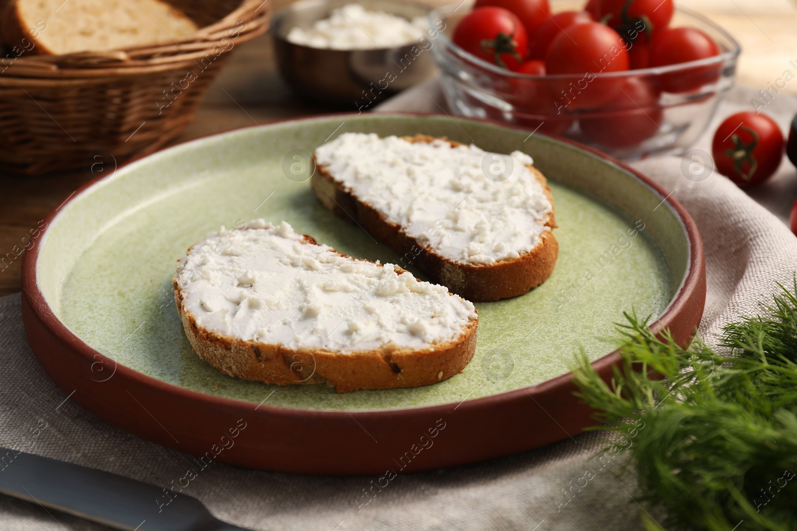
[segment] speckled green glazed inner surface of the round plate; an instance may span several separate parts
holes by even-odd
[[[285,220],[340,252],[398,263],[386,245],[324,209],[304,180],[308,153],[347,131],[447,136],[530,154],[554,197],[553,274],[526,295],[477,304],[473,361],[435,385],[333,400],[324,385],[278,387],[219,373],[192,351],[171,292],[177,260],[207,232],[253,218]],[[491,123],[376,114],[249,127],[124,166],[60,209],[36,263],[38,287],[57,318],[120,365],[211,396],[306,410],[342,405],[349,412],[457,403],[559,377],[579,349],[596,360],[616,348],[623,312],[661,315],[688,271],[689,240],[677,213],[610,162]]]

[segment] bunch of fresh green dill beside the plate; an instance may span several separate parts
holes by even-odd
[[[665,529],[797,529],[797,279],[781,289],[767,316],[724,327],[730,357],[681,349],[626,314],[611,381],[578,359],[593,429],[634,434],[630,463]]]

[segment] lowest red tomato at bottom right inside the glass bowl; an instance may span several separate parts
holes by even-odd
[[[624,148],[636,146],[658,133],[662,123],[660,92],[650,80],[628,77],[620,92],[598,118],[579,120],[587,138],[603,146]]]

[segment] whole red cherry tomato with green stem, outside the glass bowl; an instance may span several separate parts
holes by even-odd
[[[717,127],[711,153],[720,174],[740,186],[757,185],[780,166],[783,133],[768,115],[737,112]]]

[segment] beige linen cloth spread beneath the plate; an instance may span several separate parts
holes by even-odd
[[[403,93],[383,110],[439,112],[431,99],[441,103],[435,83],[423,87],[426,93],[419,88]],[[718,116],[749,107],[750,97],[750,89],[735,89]],[[797,99],[780,95],[767,111],[787,131]],[[716,123],[711,131],[713,127]],[[698,147],[707,150],[709,139],[710,133]],[[777,282],[791,283],[797,269],[797,239],[747,193],[718,174],[705,182],[690,182],[681,173],[681,158],[651,158],[635,166],[672,190],[701,230],[709,283],[701,334],[709,342],[716,341],[724,323],[756,314],[758,303],[768,302],[777,291]],[[791,164],[783,162],[774,181],[755,192],[756,199],[781,217],[787,216],[797,195],[794,174]],[[33,439],[34,453],[160,486],[182,477],[191,464],[188,456],[128,435],[65,400],[30,352],[19,299],[19,295],[0,299],[0,445],[20,443],[37,420],[44,419],[47,428]],[[631,499],[634,476],[621,466],[624,455],[600,470],[590,459],[597,449],[596,438],[595,434],[580,435],[467,467],[402,474],[359,511],[355,500],[372,478],[273,474],[214,463],[191,482],[186,494],[201,499],[226,521],[269,531],[642,529],[640,508]],[[587,469],[595,478],[581,490],[571,489]],[[568,499],[563,489],[574,493],[567,505],[563,505]],[[0,496],[3,530],[108,529],[51,513]]]

